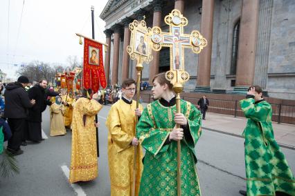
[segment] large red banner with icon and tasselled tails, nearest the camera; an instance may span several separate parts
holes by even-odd
[[[102,88],[107,86],[103,68],[102,44],[84,38],[83,86],[97,92],[99,83]]]

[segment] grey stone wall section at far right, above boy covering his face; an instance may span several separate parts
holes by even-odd
[[[295,99],[295,1],[274,0],[267,91]]]

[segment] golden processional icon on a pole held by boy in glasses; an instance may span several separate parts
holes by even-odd
[[[152,49],[147,44],[147,32],[150,28],[147,28],[146,23],[143,17],[142,21],[134,20],[132,23],[129,23],[129,30],[131,31],[130,35],[130,45],[127,46],[127,52],[130,56],[130,59],[136,60],[136,71],[137,71],[137,81],[136,81],[136,108],[138,108],[138,103],[140,99],[140,89],[141,89],[141,72],[143,70],[143,62],[149,63],[152,61]],[[136,124],[138,119],[136,118]],[[134,133],[136,131],[134,130]],[[135,195],[135,186],[136,186],[136,157],[137,150],[141,150],[134,146],[134,161],[133,161],[133,184],[132,184],[132,196]]]

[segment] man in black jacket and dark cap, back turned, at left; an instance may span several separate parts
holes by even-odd
[[[28,92],[24,89],[28,85],[28,78],[20,76],[16,82],[6,86],[4,93],[5,109],[4,116],[8,118],[12,137],[8,140],[7,150],[13,155],[21,155],[23,150],[19,147],[26,127],[26,109],[35,105],[35,100],[28,97]]]

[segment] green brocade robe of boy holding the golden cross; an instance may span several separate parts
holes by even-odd
[[[154,101],[143,110],[136,126],[136,137],[146,150],[139,195],[177,195],[177,141],[166,141],[175,126],[174,112],[176,105],[166,107],[159,100]],[[195,166],[201,113],[184,100],[181,113],[188,119],[189,136],[181,140],[181,195],[201,195]]]

